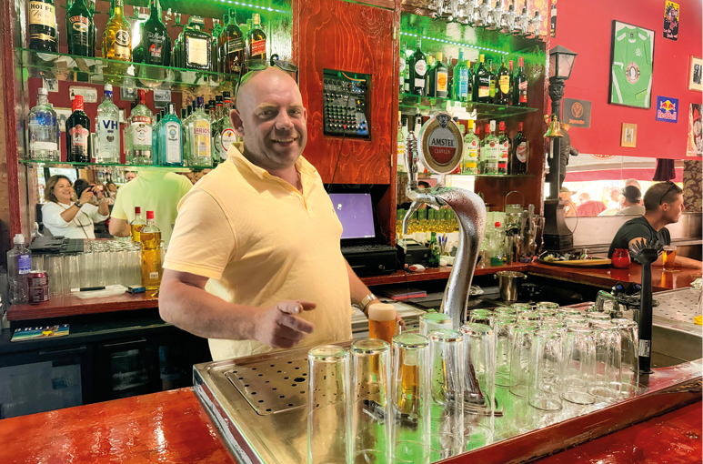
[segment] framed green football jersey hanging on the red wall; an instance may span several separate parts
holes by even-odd
[[[654,31],[613,21],[608,103],[652,106]]]

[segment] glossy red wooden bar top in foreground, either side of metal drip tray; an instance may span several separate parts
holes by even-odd
[[[697,401],[536,462],[700,463],[702,405]],[[7,464],[237,462],[192,388],[3,419],[0,442],[0,460]]]

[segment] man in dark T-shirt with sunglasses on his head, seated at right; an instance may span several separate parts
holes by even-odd
[[[623,224],[615,234],[608,250],[608,257],[612,257],[616,248],[629,248],[638,240],[657,239],[662,245],[671,244],[671,235],[667,225],[678,222],[684,210],[683,190],[673,182],[661,182],[649,187],[645,193],[645,215],[635,217]],[[654,266],[662,265],[659,257]],[[677,255],[677,267],[701,267],[702,263],[689,257]]]

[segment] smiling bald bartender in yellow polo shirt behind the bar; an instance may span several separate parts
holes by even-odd
[[[181,200],[161,317],[209,338],[216,360],[348,340],[350,301],[365,310],[377,299],[342,257],[342,226],[301,156],[296,81],[276,67],[249,73],[236,106],[244,148],[230,146]]]

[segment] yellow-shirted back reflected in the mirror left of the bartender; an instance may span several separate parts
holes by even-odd
[[[134,181],[120,188],[110,216],[110,234],[129,237],[129,223],[135,220],[135,207],[141,207],[145,219],[146,211],[154,211],[156,227],[168,245],[178,216],[178,202],[192,187],[187,177],[173,172],[141,172]]]

